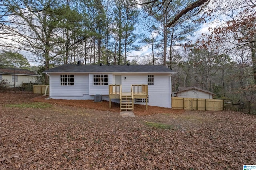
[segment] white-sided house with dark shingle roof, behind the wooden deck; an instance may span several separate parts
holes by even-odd
[[[175,72],[165,66],[62,65],[44,73],[49,75],[50,98],[92,100],[95,95],[102,95],[103,100],[109,101],[111,94],[115,94],[110,99],[119,103],[120,89],[122,95],[131,94],[131,85],[138,85],[140,90],[147,88],[148,105],[172,106],[171,76]],[[133,91],[138,89],[135,87]],[[137,93],[132,103],[146,104],[147,101]]]

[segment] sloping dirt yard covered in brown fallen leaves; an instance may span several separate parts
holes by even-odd
[[[108,102],[44,98],[0,93],[0,170],[238,170],[256,164],[256,115],[136,106],[136,117],[122,118]]]

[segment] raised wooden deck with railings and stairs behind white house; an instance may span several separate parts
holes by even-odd
[[[146,99],[146,110],[148,110],[148,85],[131,85],[131,92],[122,92],[121,85],[108,86],[109,108],[111,108],[111,99],[120,99],[120,110],[134,110],[133,99]]]

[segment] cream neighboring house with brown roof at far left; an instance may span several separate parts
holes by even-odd
[[[8,87],[20,87],[22,83],[38,83],[38,74],[26,69],[0,68],[0,80],[7,80]]]

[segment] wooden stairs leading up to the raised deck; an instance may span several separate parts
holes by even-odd
[[[133,111],[133,97],[130,93],[122,93],[120,98],[120,110]]]

